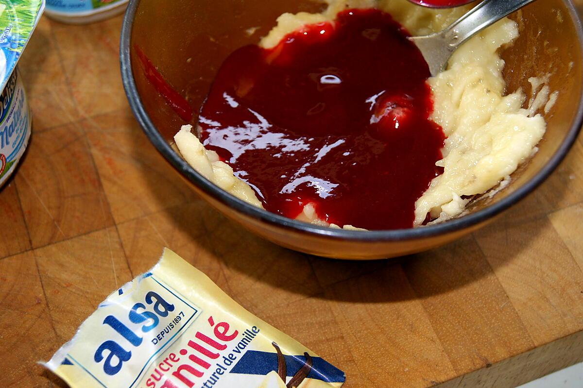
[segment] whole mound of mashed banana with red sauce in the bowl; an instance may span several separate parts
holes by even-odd
[[[465,10],[328,0],[323,13],[285,13],[226,59],[176,146],[220,188],[289,218],[387,230],[458,216],[528,160],[546,126],[522,91],[505,94],[510,19],[430,77],[407,37]]]

